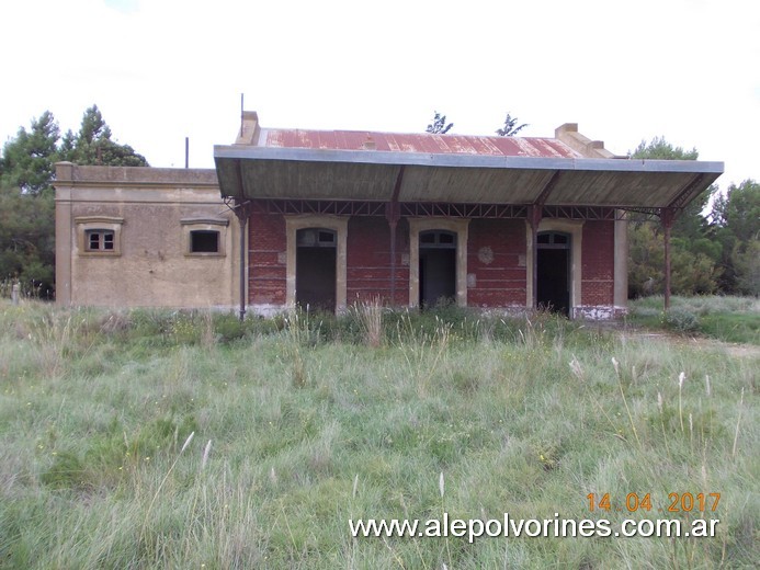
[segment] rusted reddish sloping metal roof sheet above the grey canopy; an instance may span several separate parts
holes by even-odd
[[[261,129],[259,145],[320,150],[378,150],[491,157],[581,158],[556,138],[479,137],[367,130]]]

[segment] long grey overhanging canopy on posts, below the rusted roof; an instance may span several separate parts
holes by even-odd
[[[223,196],[238,200],[682,207],[723,173],[723,162],[504,157],[216,146]],[[546,193],[545,193],[546,191]]]

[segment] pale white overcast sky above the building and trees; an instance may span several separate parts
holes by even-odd
[[[0,20],[0,140],[98,104],[154,167],[212,168],[264,127],[521,135],[563,123],[625,155],[656,136],[760,180],[757,0],[18,0]]]

